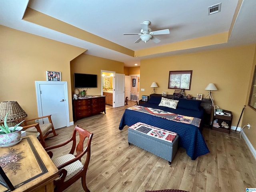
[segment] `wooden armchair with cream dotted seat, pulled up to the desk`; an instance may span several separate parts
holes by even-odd
[[[76,132],[79,134],[79,142],[76,146]],[[45,148],[48,152],[50,158],[52,158],[53,153],[49,150],[65,146],[69,142],[72,142],[72,148],[70,152],[66,155],[53,159],[54,164],[59,170],[60,177],[54,180],[54,191],[61,192],[68,188],[71,184],[76,182],[81,178],[82,186],[85,192],[90,192],[86,186],[86,172],[91,156],[91,142],[93,133],[80,128],[78,125],[74,128],[71,138],[61,144],[50,146]],[[86,139],[87,138],[87,139]],[[84,141],[87,140],[87,144],[84,147]],[[76,150],[76,155],[74,151]],[[84,162],[81,158],[86,154],[86,159]],[[84,163],[82,163],[84,162]]]

